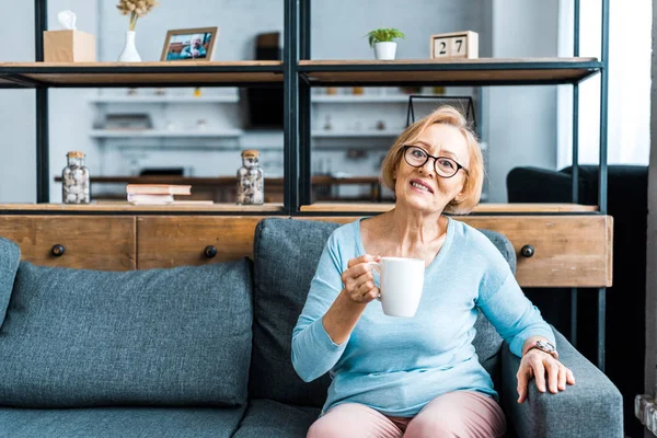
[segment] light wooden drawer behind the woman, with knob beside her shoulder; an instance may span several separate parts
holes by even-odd
[[[349,217],[314,220],[346,223]],[[518,258],[516,278],[523,287],[612,286],[611,216],[465,216],[474,228],[506,235]],[[525,256],[523,253],[531,256]],[[522,251],[523,247],[526,251]]]

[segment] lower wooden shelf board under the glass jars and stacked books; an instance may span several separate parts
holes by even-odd
[[[204,212],[279,212],[283,210],[283,204],[272,203],[262,206],[240,206],[235,204],[214,204],[214,205],[140,205],[135,206],[127,201],[111,201],[103,200],[88,205],[69,205],[69,204],[0,204],[0,210],[3,211],[204,211]]]

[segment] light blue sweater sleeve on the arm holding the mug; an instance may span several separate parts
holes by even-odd
[[[306,382],[331,370],[348,342],[335,344],[322,324],[322,318],[343,288],[338,254],[336,239],[332,235],[324,246],[306,306],[292,332],[292,366]]]

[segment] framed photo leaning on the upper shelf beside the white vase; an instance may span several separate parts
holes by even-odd
[[[166,32],[161,61],[209,61],[215,51],[217,27],[176,28]]]

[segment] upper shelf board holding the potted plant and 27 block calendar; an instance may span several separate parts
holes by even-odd
[[[577,82],[600,70],[596,58],[302,60],[311,83],[550,84]]]

